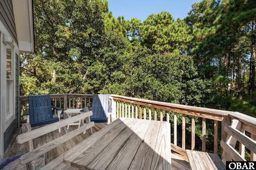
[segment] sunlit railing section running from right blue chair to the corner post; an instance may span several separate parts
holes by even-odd
[[[165,103],[159,101],[150,101],[145,99],[137,99],[132,97],[124,97],[118,95],[110,95],[112,98],[112,114],[114,117],[134,117],[138,119],[154,119],[158,121],[170,122],[173,120],[172,133],[174,140],[172,141],[172,150],[186,155],[186,142],[191,142],[191,150],[195,148],[195,117],[202,118],[202,151],[206,151],[206,119],[214,121],[214,153],[218,152],[218,123],[227,119],[229,111],[216,109],[208,109],[202,107],[193,107],[186,105],[178,105],[173,103]],[[170,114],[172,112],[172,114]],[[186,116],[190,115],[190,117]],[[178,130],[177,117],[182,117],[182,142],[178,146]],[[186,139],[186,119],[191,119],[191,141]],[[226,136],[222,136],[226,138]]]

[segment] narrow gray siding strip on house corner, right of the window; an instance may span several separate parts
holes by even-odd
[[[19,118],[19,60],[18,55],[15,55],[15,120],[12,121],[11,125],[4,132],[4,151],[7,149],[10,141],[12,140],[13,135],[15,134],[18,128],[18,118]]]

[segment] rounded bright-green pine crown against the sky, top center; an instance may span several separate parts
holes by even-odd
[[[140,33],[143,45],[162,53],[179,54],[181,48],[192,38],[184,28],[183,21],[174,21],[172,15],[165,11],[148,16]]]

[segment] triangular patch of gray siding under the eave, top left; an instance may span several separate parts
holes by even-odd
[[[12,36],[14,42],[18,44],[12,0],[0,0],[0,20]]]

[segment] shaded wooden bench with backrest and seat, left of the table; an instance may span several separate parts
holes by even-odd
[[[42,154],[50,151],[51,149],[59,146],[60,144],[63,144],[64,142],[70,140],[71,138],[77,136],[78,134],[86,132],[86,130],[89,130],[89,134],[92,134],[92,127],[94,126],[94,122],[90,121],[90,116],[92,115],[92,111],[81,113],[80,115],[71,117],[69,119],[65,119],[63,121],[59,121],[50,125],[46,125],[41,128],[37,128],[35,130],[31,131],[31,126],[29,123],[22,125],[22,134],[18,135],[16,140],[18,144],[25,143],[26,146],[26,154],[22,155],[20,157],[20,164],[24,165],[26,164],[27,169],[29,170],[35,170],[35,162],[34,160],[41,156]],[[42,136],[44,134],[47,134],[49,132],[52,132],[54,130],[57,130],[61,127],[67,126],[70,123],[79,121],[81,119],[85,119],[86,124],[80,128],[77,128],[76,130],[73,130],[63,136],[60,136],[59,138],[56,138],[55,140],[52,140],[51,142],[48,142],[36,149],[33,150],[33,142],[32,139],[38,138],[39,136]],[[44,166],[41,169],[49,170],[49,169],[73,169],[72,167],[68,165],[63,164],[63,156],[58,156],[56,159],[52,160],[49,164]]]

